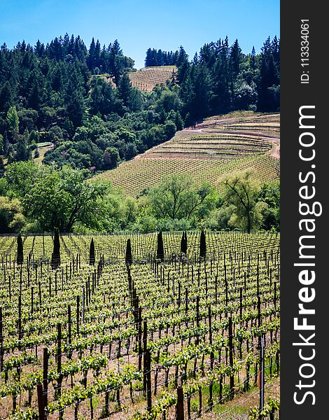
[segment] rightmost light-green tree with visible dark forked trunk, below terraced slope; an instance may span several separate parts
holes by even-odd
[[[258,202],[258,189],[251,183],[250,173],[246,172],[224,182],[224,200],[233,204],[234,213],[230,223],[250,233],[262,221],[262,210],[267,205]]]

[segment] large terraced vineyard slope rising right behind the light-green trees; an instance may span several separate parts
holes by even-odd
[[[136,196],[170,174],[221,188],[225,178],[246,170],[258,185],[279,179],[279,114],[211,117],[99,176]]]

